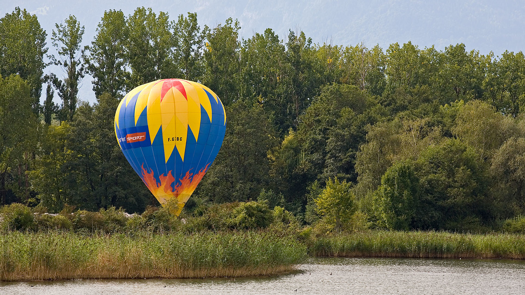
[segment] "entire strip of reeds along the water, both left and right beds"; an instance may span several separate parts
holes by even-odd
[[[268,276],[296,270],[308,255],[525,259],[525,235],[368,230],[300,237],[7,231],[0,233],[0,281]]]

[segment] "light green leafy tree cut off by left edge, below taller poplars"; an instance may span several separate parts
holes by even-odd
[[[18,75],[0,76],[0,201],[8,194],[26,202],[29,198],[27,171],[37,145],[38,121],[29,99],[31,89]]]

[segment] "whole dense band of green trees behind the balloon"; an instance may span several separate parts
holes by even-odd
[[[271,28],[241,39],[232,18],[209,28],[195,13],[144,7],[106,11],[88,46],[75,16],[47,29],[25,9],[0,19],[2,204],[158,205],[113,118],[127,91],[183,78],[214,90],[227,114],[222,149],[183,214],[253,200],[306,224],[401,230],[483,230],[524,214],[521,51],[316,44]],[[61,73],[44,75],[51,64]],[[78,96],[87,73],[92,104]]]

